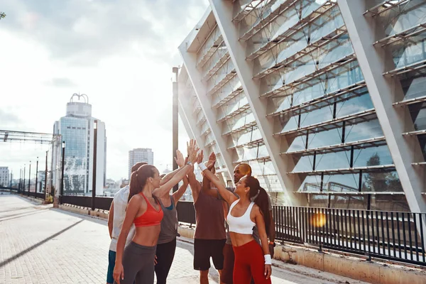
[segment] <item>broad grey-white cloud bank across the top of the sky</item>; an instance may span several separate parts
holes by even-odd
[[[167,61],[177,53],[170,41],[189,31],[178,31],[190,17],[188,7],[200,16],[205,6],[197,0],[10,1],[2,7],[8,13],[2,27],[43,43],[51,58],[70,65],[97,65],[118,53]]]

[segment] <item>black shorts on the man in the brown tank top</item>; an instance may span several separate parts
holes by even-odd
[[[213,259],[214,268],[222,270],[224,268],[224,245],[226,239],[194,240],[194,269],[196,271],[208,271],[210,268],[210,257]]]

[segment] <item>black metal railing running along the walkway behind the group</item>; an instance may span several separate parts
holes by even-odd
[[[96,197],[108,210],[111,197]],[[62,203],[90,208],[92,197],[62,196]],[[178,221],[195,224],[190,201],[178,202]],[[426,266],[426,213],[273,206],[275,239]]]

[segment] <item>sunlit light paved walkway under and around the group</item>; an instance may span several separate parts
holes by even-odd
[[[168,283],[198,283],[190,242],[178,241]],[[108,248],[104,220],[0,195],[0,283],[105,283]],[[278,261],[275,265],[280,267],[273,267],[273,283],[362,283]],[[210,283],[218,283],[213,269]]]

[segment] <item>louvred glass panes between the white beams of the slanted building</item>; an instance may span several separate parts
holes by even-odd
[[[426,2],[366,3],[366,13],[373,13],[385,31],[375,44],[386,48],[393,60],[383,76],[398,76],[403,89],[404,97],[394,99],[394,107],[407,107],[414,126],[401,135],[417,137],[424,161]],[[261,185],[276,192],[271,194],[275,203],[287,190],[310,206],[410,210],[337,1],[236,0],[217,5],[232,10],[231,21],[222,24],[231,25],[236,30],[232,36],[238,35],[228,40],[241,44],[231,55],[245,54],[252,67],[250,79],[259,90],[241,84],[239,60],[229,55],[229,35],[222,35],[218,25],[207,38],[195,36],[197,52],[186,52],[196,53],[197,72],[217,114],[217,121],[209,122],[222,126],[227,149],[221,150],[232,156],[233,165],[249,163]],[[265,103],[261,107],[266,107],[267,123],[273,127],[271,137],[263,137],[250,104],[253,96]],[[293,161],[284,174],[292,188],[283,190],[279,181],[266,147],[271,139],[280,141],[280,153],[274,154]]]

